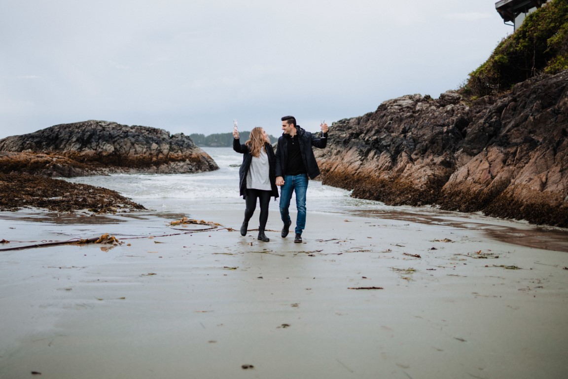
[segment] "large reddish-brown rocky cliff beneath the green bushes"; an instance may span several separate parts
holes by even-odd
[[[568,71],[466,103],[407,95],[333,124],[324,184],[389,205],[439,205],[568,227]]]

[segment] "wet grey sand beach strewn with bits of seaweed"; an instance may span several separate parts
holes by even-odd
[[[476,216],[308,214],[304,243],[242,211],[2,213],[2,378],[558,378],[568,238]],[[253,226],[253,222],[250,226]],[[492,234],[488,231],[492,231]],[[499,238],[502,231],[508,239]],[[562,239],[562,236],[565,236]],[[549,247],[550,248],[550,247]],[[563,250],[563,251],[562,251]],[[39,376],[41,375],[41,376]]]

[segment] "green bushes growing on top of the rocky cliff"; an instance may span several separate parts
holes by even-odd
[[[469,74],[462,91],[482,97],[507,91],[542,72],[568,69],[568,0],[552,0],[527,15],[523,24]]]

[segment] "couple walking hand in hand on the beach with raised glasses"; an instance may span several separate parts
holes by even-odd
[[[320,173],[312,147],[325,148],[328,126],[326,123],[321,124],[322,134],[319,138],[296,124],[293,116],[284,116],[281,120],[283,133],[278,138],[276,153],[263,128],[253,128],[244,144],[240,143],[236,127],[233,130],[233,150],[243,154],[243,164],[239,170],[239,189],[240,195],[245,199],[246,207],[241,235],[247,235],[248,223],[254,214],[258,199],[260,202],[258,240],[270,241],[264,234],[268,220],[268,205],[271,197],[278,197],[277,186],[281,186],[280,216],[284,224],[281,236],[285,238],[288,235],[292,224],[289,207],[292,193],[295,193],[298,216],[294,242],[302,243],[302,232],[306,227],[308,177],[314,179]]]

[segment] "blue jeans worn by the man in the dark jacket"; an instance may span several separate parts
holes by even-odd
[[[307,174],[285,175],[284,185],[280,190],[280,216],[282,222],[286,225],[290,223],[290,200],[292,193],[296,194],[296,209],[298,216],[296,218],[296,234],[302,234],[306,227],[306,191],[308,189]]]

